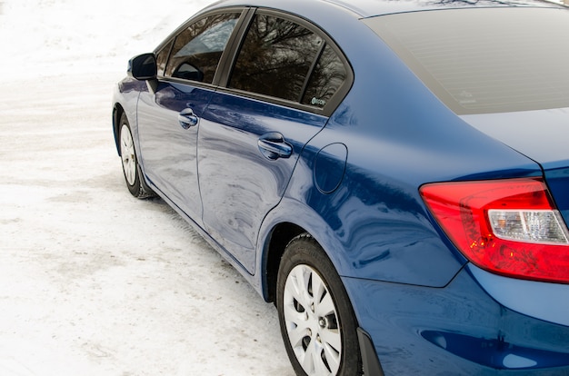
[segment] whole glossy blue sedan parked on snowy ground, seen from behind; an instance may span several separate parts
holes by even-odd
[[[569,375],[568,67],[561,5],[226,0],[130,61],[115,142],[298,375]]]

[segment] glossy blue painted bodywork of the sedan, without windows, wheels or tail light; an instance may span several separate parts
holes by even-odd
[[[386,375],[569,374],[569,285],[475,268],[419,194],[424,183],[544,176],[569,223],[569,110],[457,116],[360,21],[507,4],[247,5],[322,28],[354,72],[349,92],[326,112],[231,90],[230,72],[216,75],[220,86],[126,78],[115,110],[124,109],[133,127],[145,181],[267,300],[275,260],[290,240],[275,244],[275,233],[311,233],[342,277]],[[204,12],[224,6],[245,5],[223,1]]]

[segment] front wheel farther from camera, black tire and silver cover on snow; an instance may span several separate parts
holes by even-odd
[[[118,140],[128,192],[140,199],[154,196],[155,193],[141,181],[140,164],[136,158],[133,134],[126,114],[121,115],[120,123],[118,124]]]

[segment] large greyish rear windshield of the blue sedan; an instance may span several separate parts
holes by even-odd
[[[456,114],[569,107],[569,11],[480,8],[364,20]]]

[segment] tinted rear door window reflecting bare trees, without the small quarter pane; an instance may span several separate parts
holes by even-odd
[[[300,102],[307,75],[324,40],[302,25],[255,15],[228,87]]]

